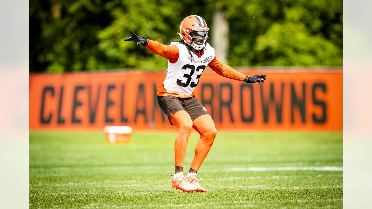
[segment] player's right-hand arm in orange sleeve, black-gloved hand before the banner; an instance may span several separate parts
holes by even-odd
[[[238,71],[232,69],[230,66],[223,64],[221,61],[217,60],[216,57],[209,62],[208,66],[218,73],[219,75],[222,75],[226,78],[231,78],[238,81],[244,81],[246,83],[263,83],[264,80],[266,80],[266,75],[260,74],[260,75],[253,75],[251,77],[246,76],[242,73],[239,73]]]

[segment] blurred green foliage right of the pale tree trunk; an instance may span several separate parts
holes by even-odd
[[[230,23],[230,65],[342,65],[341,0],[210,3]]]

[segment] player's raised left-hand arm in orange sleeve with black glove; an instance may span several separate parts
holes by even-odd
[[[152,41],[144,36],[138,36],[131,30],[132,36],[126,38],[124,41],[135,41],[137,46],[143,45],[149,51],[161,57],[167,58],[170,63],[175,63],[179,57],[179,50],[175,45],[165,45],[157,41]]]

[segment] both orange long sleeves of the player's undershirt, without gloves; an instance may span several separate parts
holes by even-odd
[[[150,39],[147,40],[148,44],[145,47],[148,50],[157,55],[160,55],[161,57],[167,58],[170,63],[177,62],[180,52],[176,45],[165,45],[157,41],[152,41]],[[226,64],[223,64],[221,61],[217,60],[216,57],[214,57],[214,59],[209,62],[208,66],[213,71],[226,78],[231,78],[238,81],[244,81],[244,78],[246,78],[244,74],[239,73]]]

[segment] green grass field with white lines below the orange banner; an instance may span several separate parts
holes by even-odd
[[[342,208],[341,133],[218,133],[198,172],[207,193],[172,189],[176,135],[31,132],[30,208]]]

